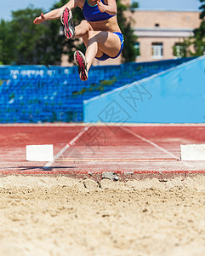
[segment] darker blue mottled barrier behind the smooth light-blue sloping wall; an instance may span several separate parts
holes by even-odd
[[[0,123],[81,122],[83,100],[186,61],[91,67],[86,82],[77,67],[0,66]]]

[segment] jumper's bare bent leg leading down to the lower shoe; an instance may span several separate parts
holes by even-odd
[[[89,70],[94,58],[103,53],[115,57],[121,49],[121,41],[117,34],[103,31],[89,31],[88,44],[85,53],[87,68]]]

